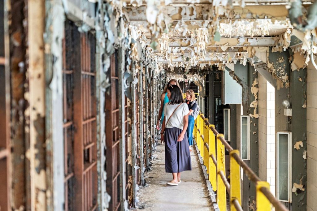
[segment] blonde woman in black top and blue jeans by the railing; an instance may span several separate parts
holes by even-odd
[[[192,152],[191,146],[193,145],[193,130],[195,124],[194,118],[194,111],[197,108],[197,101],[195,97],[195,93],[193,90],[187,90],[186,92],[186,104],[188,105],[189,109],[189,116],[188,116],[188,127],[187,127],[187,137],[188,137],[188,144],[189,144],[189,151]]]

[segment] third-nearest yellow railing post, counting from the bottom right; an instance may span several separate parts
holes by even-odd
[[[224,135],[217,135],[217,204],[220,211],[225,211],[227,210],[226,186],[224,185],[219,172],[222,171],[224,175],[226,174],[226,164],[224,157],[224,145],[220,141],[220,137],[224,138]]]

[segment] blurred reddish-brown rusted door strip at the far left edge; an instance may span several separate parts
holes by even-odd
[[[0,210],[9,210],[10,172],[10,76],[5,70],[4,8],[0,1]]]

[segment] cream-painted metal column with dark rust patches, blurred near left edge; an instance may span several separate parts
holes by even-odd
[[[45,68],[44,10],[45,1],[28,1],[29,22],[29,113],[31,209],[47,209],[47,173],[45,154]],[[49,178],[50,180],[51,178]]]

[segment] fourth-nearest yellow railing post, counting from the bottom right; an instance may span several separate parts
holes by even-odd
[[[209,181],[212,189],[217,191],[217,166],[211,159],[211,155],[216,158],[216,137],[212,127],[215,128],[215,125],[209,125]]]

